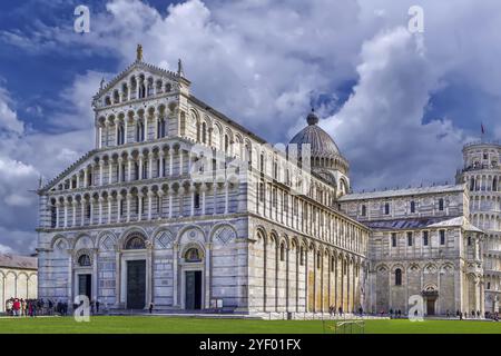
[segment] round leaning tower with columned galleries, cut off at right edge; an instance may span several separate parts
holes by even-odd
[[[499,312],[501,299],[501,142],[479,141],[463,148],[458,182],[470,191],[470,220],[483,229],[485,312]]]

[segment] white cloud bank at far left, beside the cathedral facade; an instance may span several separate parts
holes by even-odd
[[[14,103],[7,89],[0,88],[0,108],[9,113],[0,127],[0,253],[35,251],[39,177],[53,178],[92,148],[90,101],[96,78],[100,78],[96,72],[77,76],[61,93],[63,110],[47,120],[63,130],[56,134],[21,129],[23,121],[13,110]]]

